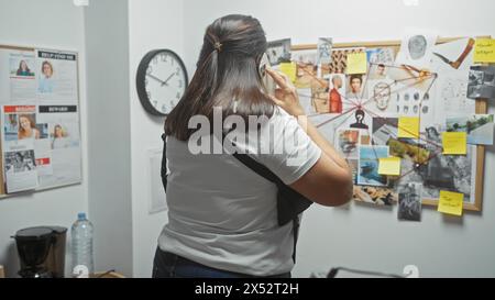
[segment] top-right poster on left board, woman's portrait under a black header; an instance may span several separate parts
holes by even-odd
[[[77,88],[77,54],[56,51],[36,51],[37,99],[45,101],[64,101],[76,104]]]

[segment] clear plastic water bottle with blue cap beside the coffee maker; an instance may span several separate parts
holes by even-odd
[[[73,249],[73,277],[88,278],[94,274],[92,234],[91,222],[86,213],[77,214],[77,221],[70,229]]]

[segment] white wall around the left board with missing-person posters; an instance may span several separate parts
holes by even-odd
[[[22,15],[22,21],[20,21]],[[0,200],[0,265],[7,276],[19,270],[11,235],[20,229],[59,225],[70,229],[77,212],[87,211],[87,110],[82,10],[67,0],[0,0],[0,44],[79,52],[82,185]],[[69,236],[67,236],[69,238]],[[67,247],[69,253],[69,246]],[[66,258],[66,270],[70,257]]]

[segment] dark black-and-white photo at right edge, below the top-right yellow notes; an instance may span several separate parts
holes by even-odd
[[[495,98],[495,67],[471,67],[468,84],[468,98]]]

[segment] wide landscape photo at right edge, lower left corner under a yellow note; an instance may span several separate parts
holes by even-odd
[[[493,114],[448,116],[446,122],[448,132],[468,133],[468,144],[493,145]]]

